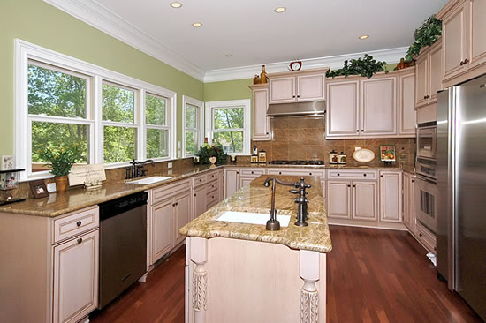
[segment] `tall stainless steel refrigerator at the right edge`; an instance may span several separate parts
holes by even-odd
[[[438,94],[437,272],[486,320],[486,75]]]

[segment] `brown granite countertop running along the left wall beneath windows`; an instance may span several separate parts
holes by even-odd
[[[104,183],[100,189],[91,191],[81,187],[74,188],[64,193],[51,194],[49,197],[42,199],[27,199],[23,202],[1,206],[0,212],[56,217],[85,207],[92,207],[111,199],[118,199],[136,192],[147,191],[163,184],[169,184],[186,177],[192,177],[195,174],[220,168],[222,166],[211,167],[211,165],[200,165],[198,167],[170,169],[161,174],[151,175],[173,177],[154,184],[130,184],[126,181],[119,181]]]

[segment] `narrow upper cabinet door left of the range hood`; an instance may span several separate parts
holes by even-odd
[[[255,141],[270,140],[270,118],[267,117],[267,109],[269,109],[269,89],[254,89],[252,139]]]

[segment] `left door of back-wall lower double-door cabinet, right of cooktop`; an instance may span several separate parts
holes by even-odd
[[[326,193],[328,216],[351,219],[351,182],[328,180]]]

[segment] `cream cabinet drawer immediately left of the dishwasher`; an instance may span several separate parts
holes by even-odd
[[[59,241],[98,227],[100,223],[99,215],[99,209],[96,206],[54,219],[52,221],[52,244],[57,244]]]

